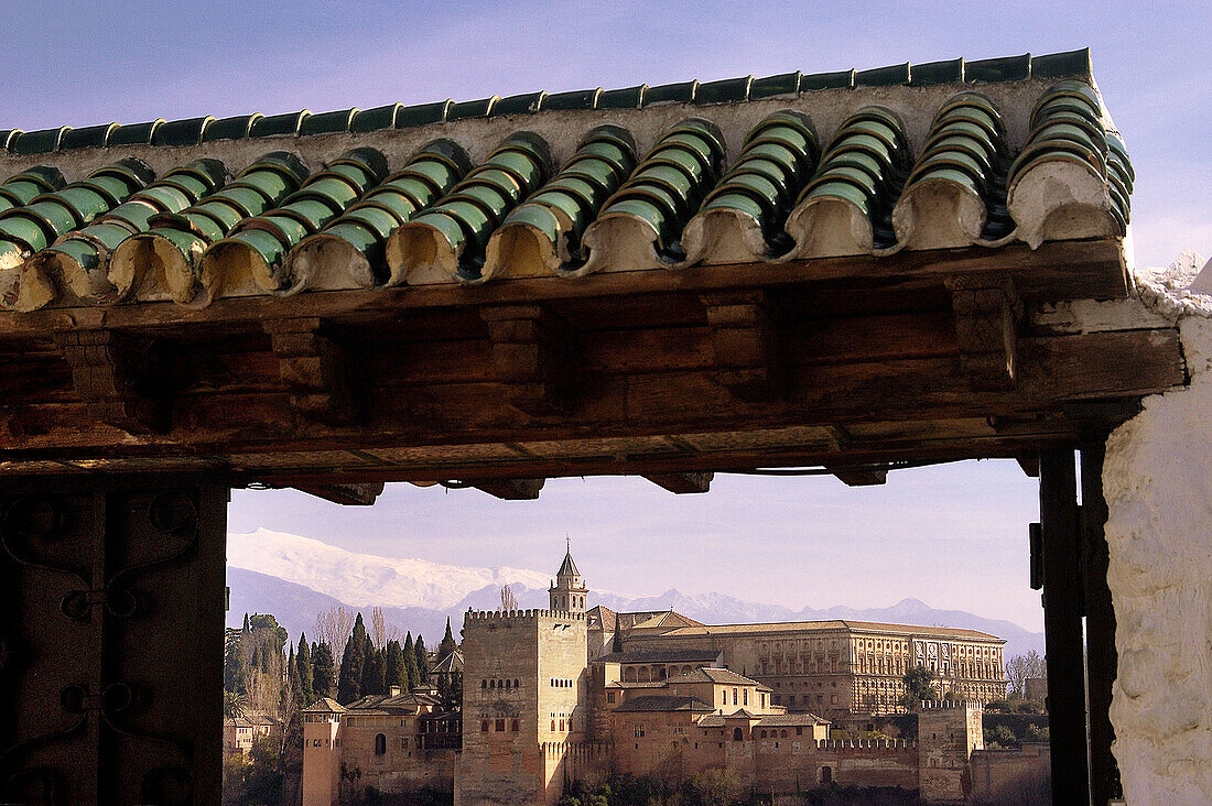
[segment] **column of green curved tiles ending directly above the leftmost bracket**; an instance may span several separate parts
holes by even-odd
[[[194,160],[172,168],[84,229],[30,257],[23,271],[40,275],[42,281],[53,282],[59,293],[80,302],[95,305],[113,302],[116,290],[108,274],[114,250],[131,235],[145,231],[154,216],[181,212],[228,179],[230,175],[218,160]]]

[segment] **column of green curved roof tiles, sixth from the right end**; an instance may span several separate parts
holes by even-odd
[[[480,279],[576,274],[585,262],[585,228],[634,167],[630,132],[613,125],[590,128],[555,178],[492,233]]]

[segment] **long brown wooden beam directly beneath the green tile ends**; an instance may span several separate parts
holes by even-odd
[[[326,291],[295,297],[251,296],[218,299],[201,309],[168,303],[139,303],[97,308],[62,308],[33,313],[0,311],[0,341],[44,338],[53,330],[72,327],[166,327],[216,332],[216,324],[267,319],[319,316],[331,320],[396,318],[402,310],[469,307],[491,303],[533,304],[548,299],[634,296],[662,292],[698,293],[720,288],[765,287],[789,284],[839,286],[846,282],[915,282],[937,287],[953,274],[1013,275],[1024,299],[1122,298],[1128,293],[1121,241],[1058,241],[1037,250],[1012,245],[901,252],[894,258],[856,256],[793,261],[697,265],[687,269],[608,271],[576,280],[527,278],[496,280],[475,286],[433,285],[395,288]]]

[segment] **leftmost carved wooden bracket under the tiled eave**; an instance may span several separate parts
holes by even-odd
[[[55,333],[55,343],[93,417],[130,434],[167,430],[167,383],[154,371],[152,341],[110,330],[73,330]]]

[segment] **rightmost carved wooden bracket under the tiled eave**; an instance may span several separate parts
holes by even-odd
[[[1018,373],[1022,304],[1007,278],[948,278],[960,365],[973,391],[1013,389]]]

